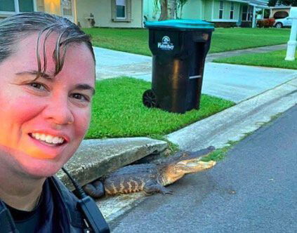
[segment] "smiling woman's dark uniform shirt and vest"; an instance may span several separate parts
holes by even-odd
[[[15,210],[0,200],[0,232],[89,232],[84,215],[77,208],[78,201],[58,178],[50,177],[44,182],[42,198],[33,211]],[[93,207],[97,208],[95,204]],[[91,218],[104,220],[97,214]]]

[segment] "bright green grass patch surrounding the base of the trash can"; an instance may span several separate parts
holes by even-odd
[[[175,114],[149,109],[143,105],[142,96],[150,88],[150,82],[127,77],[98,81],[86,138],[158,138],[234,105],[228,100],[202,95],[199,111]]]

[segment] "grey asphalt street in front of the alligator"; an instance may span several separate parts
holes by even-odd
[[[297,232],[297,105],[110,225],[112,232]],[[199,137],[199,135],[197,135]]]

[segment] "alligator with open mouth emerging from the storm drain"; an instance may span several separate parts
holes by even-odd
[[[212,168],[216,161],[202,161],[215,147],[207,147],[197,152],[178,152],[170,159],[155,164],[135,164],[124,166],[103,179],[84,185],[83,189],[91,197],[128,194],[144,191],[146,194],[160,192],[172,194],[166,185],[171,185],[187,173],[197,173]]]

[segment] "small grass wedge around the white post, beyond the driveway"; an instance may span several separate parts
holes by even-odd
[[[214,62],[297,69],[297,61],[287,61],[284,60],[285,57],[286,51],[282,50],[269,53],[252,53],[246,55],[238,55],[231,58],[220,58],[214,60]],[[297,53],[295,54],[295,57],[297,58]]]

